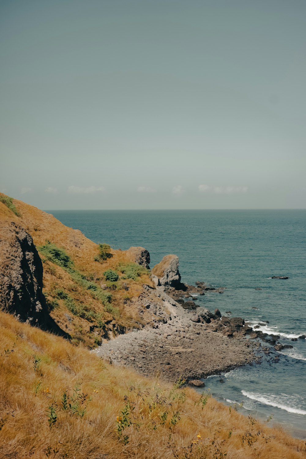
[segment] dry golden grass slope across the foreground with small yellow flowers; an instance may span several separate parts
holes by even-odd
[[[113,367],[6,313],[0,313],[0,372],[1,458],[306,457],[305,442],[282,429],[205,395],[202,403],[192,389]],[[71,397],[75,386],[88,394],[85,403],[65,410],[63,394]]]

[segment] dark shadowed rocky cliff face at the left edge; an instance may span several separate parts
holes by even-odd
[[[31,324],[45,321],[43,266],[32,237],[14,222],[0,226],[0,309]]]

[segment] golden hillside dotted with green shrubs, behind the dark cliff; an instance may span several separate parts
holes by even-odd
[[[142,285],[152,282],[129,252],[99,246],[52,215],[0,194],[0,222],[11,221],[33,237],[43,261],[50,315],[73,343],[95,347],[150,320],[140,316],[134,300]]]

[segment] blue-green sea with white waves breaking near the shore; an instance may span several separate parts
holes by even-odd
[[[280,334],[292,349],[206,381],[224,403],[289,425],[306,437],[306,210],[48,211],[95,242],[143,246],[153,267],[164,255],[180,258],[182,280],[226,287],[199,305],[231,311],[261,330]],[[271,279],[274,275],[288,280]],[[261,290],[255,290],[255,289]],[[252,309],[257,308],[257,309]],[[205,358],[205,356],[203,356]]]

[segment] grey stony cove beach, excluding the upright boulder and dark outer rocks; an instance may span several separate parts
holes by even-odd
[[[187,381],[205,378],[260,359],[255,354],[258,343],[243,338],[240,325],[232,331],[222,325],[225,334],[221,333],[217,311],[216,315],[205,308],[184,309],[162,287],[146,289],[139,298],[139,309],[152,312],[153,325],[105,342],[94,351],[101,358],[172,382],[180,376]],[[246,327],[243,319],[229,320]]]

